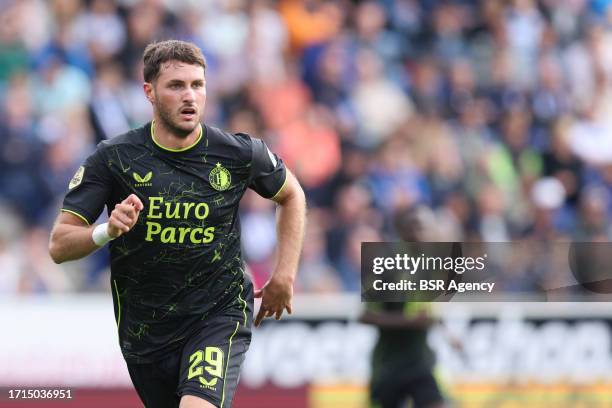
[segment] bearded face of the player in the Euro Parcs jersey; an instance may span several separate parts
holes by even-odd
[[[206,104],[206,79],[201,66],[165,62],[157,79],[145,83],[144,89],[163,125],[176,136],[187,137],[200,123]]]

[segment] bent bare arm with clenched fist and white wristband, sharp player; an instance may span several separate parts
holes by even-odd
[[[108,235],[117,238],[131,230],[142,208],[142,202],[134,194],[117,204],[108,219]],[[61,212],[49,239],[49,255],[53,261],[58,264],[73,261],[98,249],[92,238],[94,228],[74,214]]]

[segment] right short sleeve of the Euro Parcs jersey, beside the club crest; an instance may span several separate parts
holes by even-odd
[[[251,138],[252,160],[249,187],[264,198],[274,198],[285,186],[287,169],[283,161],[261,140]]]

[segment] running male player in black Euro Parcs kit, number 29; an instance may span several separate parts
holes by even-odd
[[[255,318],[291,313],[304,193],[259,139],[200,118],[206,62],[183,41],[144,52],[154,120],[100,143],[70,182],[49,252],[82,258],[110,242],[119,343],[147,408],[230,407]],[[247,187],[279,204],[278,262],[253,293],[240,251]],[[92,225],[104,206],[107,223]]]

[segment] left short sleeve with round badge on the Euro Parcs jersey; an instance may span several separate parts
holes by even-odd
[[[98,147],[72,177],[62,211],[76,215],[89,225],[93,224],[110,197],[111,182],[110,170]]]

